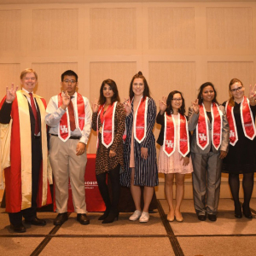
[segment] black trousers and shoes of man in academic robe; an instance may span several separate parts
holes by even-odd
[[[32,220],[37,217],[38,181],[41,161],[41,137],[32,137],[32,207],[21,210],[20,212],[9,212],[9,221],[11,224],[21,224],[22,216],[26,220]]]

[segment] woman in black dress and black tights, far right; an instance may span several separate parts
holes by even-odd
[[[242,217],[239,201],[239,174],[243,175],[244,201],[242,212],[246,218],[253,218],[250,200],[253,193],[254,172],[256,172],[255,86],[253,90],[250,88],[248,98],[244,96],[245,88],[239,79],[231,79],[229,90],[230,99],[223,105],[226,108],[230,125],[230,148],[222,170],[229,173],[236,218]]]

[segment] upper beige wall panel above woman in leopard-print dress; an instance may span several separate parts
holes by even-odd
[[[90,49],[136,49],[136,43],[136,9],[90,9]]]

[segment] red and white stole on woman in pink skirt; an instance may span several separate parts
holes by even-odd
[[[189,129],[187,119],[178,113],[177,129],[175,119],[172,114],[165,113],[165,131],[164,131],[164,152],[171,156],[176,148],[176,139],[178,137],[178,152],[185,157],[189,153]]]

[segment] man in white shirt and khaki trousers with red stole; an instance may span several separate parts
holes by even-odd
[[[49,125],[49,160],[55,180],[56,212],[54,224],[67,221],[68,178],[74,211],[80,224],[89,224],[86,215],[84,172],[87,162],[86,144],[90,136],[90,102],[76,90],[78,75],[72,70],[61,74],[62,92],[51,97],[46,108]]]

